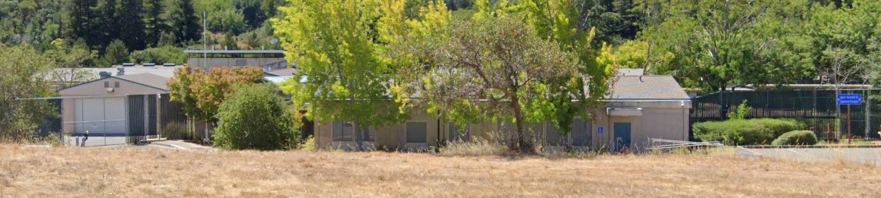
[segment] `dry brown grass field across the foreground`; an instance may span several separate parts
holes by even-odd
[[[9,197],[877,197],[881,169],[712,156],[35,148],[0,144]]]

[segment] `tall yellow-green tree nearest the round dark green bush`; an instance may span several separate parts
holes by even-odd
[[[391,70],[381,62],[373,28],[380,17],[376,1],[292,0],[272,20],[288,61],[300,62],[295,79],[283,90],[295,106],[305,108],[315,121],[352,121],[356,142],[361,131],[403,121],[399,101],[388,91]],[[306,104],[309,104],[306,106]]]

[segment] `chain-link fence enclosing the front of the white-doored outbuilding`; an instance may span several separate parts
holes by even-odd
[[[181,104],[170,101],[167,94],[46,100],[58,109],[60,116],[46,118],[39,126],[40,135],[60,136],[69,145],[119,145],[161,139],[162,126],[187,119]]]

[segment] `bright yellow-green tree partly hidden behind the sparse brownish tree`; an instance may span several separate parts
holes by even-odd
[[[539,38],[555,43],[560,50],[577,55],[574,62],[578,77],[574,79],[558,78],[550,90],[548,106],[551,108],[552,121],[562,135],[571,130],[574,116],[589,118],[585,111],[587,106],[596,106],[605,97],[611,86],[611,77],[618,67],[613,59],[599,60],[596,48],[607,48],[604,42],[595,47],[596,23],[600,20],[596,12],[602,9],[594,1],[532,1],[524,0],[513,6],[505,6],[500,1],[500,8],[493,11],[488,3],[478,1],[478,18],[492,15],[502,16],[506,12],[520,12],[524,21],[530,25]],[[611,47],[608,47],[611,48]],[[603,61],[604,63],[601,63]],[[572,98],[577,100],[573,100]]]

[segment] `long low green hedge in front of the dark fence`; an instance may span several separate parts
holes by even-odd
[[[768,144],[786,132],[800,129],[804,129],[801,122],[778,119],[706,121],[692,125],[694,136],[702,141],[737,145]]]

